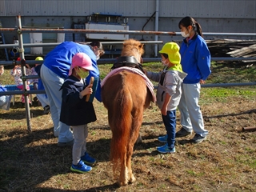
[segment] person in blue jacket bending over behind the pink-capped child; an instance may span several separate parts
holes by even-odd
[[[68,77],[70,65],[74,54],[87,54],[94,67],[86,78],[86,84],[89,84],[90,77],[98,78],[97,90],[94,91],[95,98],[102,102],[101,86],[99,81],[99,70],[97,66],[98,58],[104,54],[101,42],[91,42],[88,45],[76,42],[62,42],[51,50],[42,64],[40,77],[45,87],[47,97],[50,102],[50,114],[54,122],[54,136],[58,137],[58,146],[72,146],[74,135],[70,130],[70,126],[59,121],[62,105],[62,90],[60,90],[63,82]]]

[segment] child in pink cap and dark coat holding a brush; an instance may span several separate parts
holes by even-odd
[[[73,128],[73,161],[70,170],[78,173],[92,170],[91,165],[96,162],[86,152],[87,123],[96,121],[93,103],[86,102],[86,95],[93,92],[92,86],[86,85],[85,81],[90,70],[94,70],[90,57],[84,53],[75,54],[72,58],[69,76],[61,87],[60,121]]]

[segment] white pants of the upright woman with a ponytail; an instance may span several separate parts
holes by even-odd
[[[194,132],[205,137],[208,131],[204,129],[202,112],[198,101],[200,98],[200,83],[184,84],[182,83],[182,98],[178,105],[181,113],[182,127],[189,132]]]

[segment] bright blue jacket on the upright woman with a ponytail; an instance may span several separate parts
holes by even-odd
[[[195,34],[188,42],[183,40],[179,50],[182,56],[182,70],[187,74],[183,83],[194,84],[210,75],[210,51],[205,40]]]

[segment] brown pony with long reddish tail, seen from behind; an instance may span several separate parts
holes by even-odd
[[[122,56],[134,56],[138,62],[144,54],[143,44],[134,39],[126,40]],[[118,184],[135,182],[131,170],[131,156],[134,143],[142,126],[143,111],[150,106],[152,94],[147,89],[145,79],[139,74],[122,70],[107,78],[102,86],[102,102],[108,110],[108,121],[112,131],[110,161],[113,171],[120,168]]]

